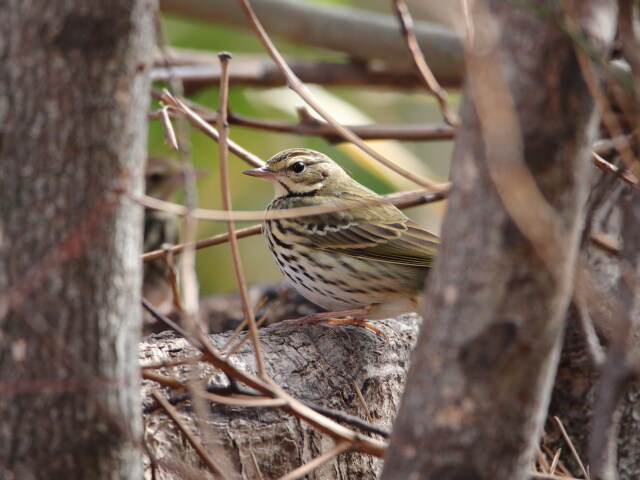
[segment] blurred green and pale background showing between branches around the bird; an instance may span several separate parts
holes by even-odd
[[[390,2],[321,2],[317,4],[353,5],[358,8],[377,10],[393,15]],[[419,4],[420,2],[414,2]],[[438,2],[429,2],[438,3]],[[436,9],[423,11],[419,5],[410,4],[414,18],[431,17],[446,21],[446,14]],[[415,7],[415,8],[414,8]],[[206,51],[214,55],[220,51],[230,52],[236,58],[248,54],[259,54],[267,58],[263,47],[249,30],[241,30],[211,22],[195,21],[177,15],[162,13],[160,24],[166,42],[172,49]],[[346,61],[341,53],[319,48],[306,47],[283,41],[276,36],[272,40],[285,57],[305,60],[322,59]],[[407,52],[407,56],[409,53]],[[234,60],[231,60],[233,64]],[[156,83],[155,88],[163,88],[164,83]],[[343,124],[415,124],[433,123],[443,125],[438,105],[426,89],[402,90],[382,87],[320,87],[309,85],[323,105]],[[454,111],[458,109],[458,94],[449,91],[448,99]],[[218,88],[212,84],[188,98],[215,110],[218,105]],[[233,113],[260,119],[297,122],[296,108],[303,105],[297,95],[286,87],[257,88],[231,85],[229,107]],[[154,106],[157,106],[155,104]],[[190,159],[195,168],[207,173],[197,181],[198,206],[202,208],[221,208],[220,178],[218,175],[217,145],[201,132],[189,129]],[[394,191],[418,188],[385,167],[377,164],[357,147],[345,143],[328,143],[321,137],[265,132],[231,125],[230,139],[245,149],[268,160],[275,153],[293,147],[306,147],[319,150],[340,163],[356,180],[374,191],[384,194]],[[448,178],[449,159],[452,141],[399,142],[376,140],[369,142],[387,158],[404,167],[420,173],[435,181],[443,182]],[[164,141],[160,122],[149,122],[149,155],[164,155],[178,158],[176,152],[169,149]],[[268,182],[242,175],[249,167],[233,154],[229,156],[230,181],[235,210],[262,210],[273,197],[273,189]],[[175,198],[182,203],[182,192]],[[439,224],[445,203],[420,206],[406,211],[418,223],[435,233],[439,233]],[[256,222],[237,222],[236,228],[252,225]],[[198,238],[226,232],[223,222],[199,221]],[[271,258],[261,236],[240,240],[244,270],[249,285],[255,283],[276,283],[282,276]],[[197,252],[197,275],[200,293],[206,296],[212,293],[236,290],[235,277],[228,244],[214,246]]]

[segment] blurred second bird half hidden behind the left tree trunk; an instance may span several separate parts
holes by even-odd
[[[160,200],[170,200],[184,179],[182,166],[169,157],[150,157],[145,171],[145,193]],[[180,240],[180,222],[171,213],[145,208],[143,251],[151,252]],[[164,258],[146,262],[143,268],[142,296],[154,307],[171,298]]]

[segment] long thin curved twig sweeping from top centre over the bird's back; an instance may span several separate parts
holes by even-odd
[[[416,183],[417,185],[420,185],[421,187],[425,188],[428,191],[433,190],[433,187],[434,187],[433,182],[430,182],[429,180],[426,180],[425,178],[422,178],[421,176],[416,175],[413,172],[410,172],[409,170],[405,170],[404,168],[396,165],[392,161],[380,155],[377,151],[375,151],[373,148],[371,148],[369,145],[363,142],[351,130],[349,130],[348,128],[345,128],[340,122],[338,122],[320,104],[320,102],[318,102],[318,100],[313,96],[311,91],[309,91],[309,89],[300,81],[300,79],[295,75],[295,73],[293,73],[291,68],[289,68],[289,66],[287,65],[287,62],[284,60],[284,58],[282,57],[278,49],[275,47],[273,42],[271,42],[271,39],[265,32],[264,28],[262,28],[262,25],[260,24],[258,17],[256,17],[256,14],[253,11],[251,4],[249,3],[249,0],[238,0],[238,1],[240,2],[240,5],[243,7],[245,14],[247,16],[247,19],[249,20],[251,27],[253,28],[256,35],[258,36],[258,39],[263,44],[263,46],[265,47],[265,49],[267,50],[271,58],[273,58],[273,61],[278,65],[282,73],[287,78],[289,87],[294,92],[296,92],[300,96],[300,98],[302,98],[305,102],[307,102],[307,104],[311,108],[313,108],[322,118],[324,118],[327,123],[329,123],[333,128],[335,128],[336,132],[346,141],[353,143],[358,148],[360,148],[363,152],[367,153],[372,158],[382,163],[383,165],[393,170],[394,172],[398,173],[399,175],[402,175],[406,179],[411,180],[412,182]]]

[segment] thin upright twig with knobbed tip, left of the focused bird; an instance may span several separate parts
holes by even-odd
[[[220,104],[218,106],[218,133],[220,139],[218,141],[218,160],[220,162],[220,188],[222,190],[222,205],[227,211],[233,210],[231,204],[231,190],[229,187],[229,172],[227,170],[227,137],[229,136],[229,124],[227,123],[227,106],[229,96],[229,60],[231,55],[223,52],[219,55],[220,67],[222,75],[220,77]],[[253,316],[253,308],[249,302],[249,294],[247,293],[247,282],[244,278],[242,269],[242,259],[240,258],[240,249],[238,247],[238,239],[235,235],[235,227],[233,220],[227,220],[227,232],[229,233],[229,246],[231,247],[231,258],[233,259],[233,270],[236,275],[238,289],[240,291],[240,300],[242,302],[242,310],[244,318],[249,324],[249,335],[253,343],[253,350],[256,357],[256,365],[258,367],[258,375],[262,378],[267,377],[267,371],[264,366],[264,358],[262,356],[262,348],[260,347],[260,339],[258,338],[258,327],[256,319]]]

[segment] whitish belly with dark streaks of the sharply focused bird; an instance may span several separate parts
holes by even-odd
[[[369,319],[416,310],[418,286],[409,288],[414,267],[362,260],[321,250],[273,249],[287,280],[305,298],[330,311],[379,304]],[[409,273],[409,275],[407,275]]]

